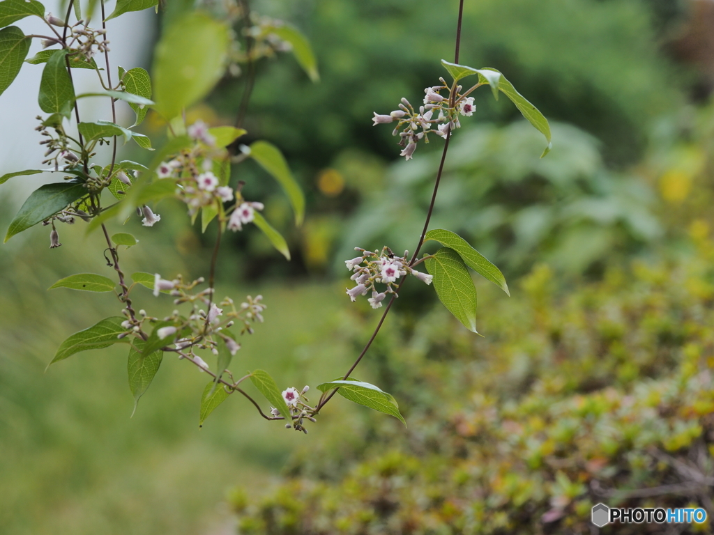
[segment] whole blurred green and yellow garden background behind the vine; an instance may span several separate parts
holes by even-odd
[[[268,305],[233,368],[314,387],[346,370],[376,322],[344,295],[342,260],[356,245],[418,240],[440,143],[398,161],[391,129],[370,117],[443,76],[458,2],[251,6],[298,26],[318,58],[319,83],[289,54],[258,63],[244,123],[246,143],[286,155],[308,215],[294,228],[274,181],[236,166],[293,260],[248,229],[223,245],[218,293],[262,293]],[[408,429],[339,397],[308,436],[233,397],[199,429],[206,377],[169,358],[130,418],[121,349],[45,372],[67,335],[116,302],[48,292],[73,272],[110,269],[81,225],[61,229],[57,250],[34,228],[0,248],[0,531],[589,534],[598,501],[714,514],[714,4],[467,0],[463,29],[461,62],[501,70],[550,119],[553,151],[538,159],[542,139],[511,103],[478,93],[432,227],[499,265],[512,297],[476,281],[476,337],[431,288],[405,286],[358,377],[396,396]],[[119,64],[149,68],[160,31],[151,10],[110,21]],[[40,71],[25,66],[0,97],[0,172],[41,161]],[[243,83],[221,81],[189,121],[233,123]],[[162,128],[150,116],[144,132]],[[0,227],[43,180],[2,186]],[[141,243],[126,271],[205,275],[215,230],[202,235],[172,201],[157,210],[154,228],[127,223]],[[139,300],[170,310],[149,290]],[[642,491],[653,487],[663,490]]]

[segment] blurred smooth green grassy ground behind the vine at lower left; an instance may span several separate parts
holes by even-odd
[[[3,534],[213,534],[229,518],[221,509],[227,489],[241,484],[263,494],[295,444],[318,441],[331,421],[339,425],[326,416],[326,425],[305,437],[264,422],[236,396],[199,429],[208,377],[170,355],[130,419],[126,347],[80,353],[45,373],[65,337],[119,307],[111,294],[46,291],[77,271],[70,267],[74,255],[81,271],[112,276],[101,255],[89,253],[99,250],[99,236],[84,240],[72,230],[61,236],[64,247],[50,251],[46,229],[26,234],[26,243],[19,237],[0,248]],[[124,255],[127,272],[146,260],[147,250],[150,271],[170,277],[191,270],[177,260],[176,244],[156,241],[143,252],[142,245]],[[261,367],[278,384],[300,388],[343,372],[351,350],[333,335],[348,321],[340,287],[257,290],[268,305],[266,323],[243,340],[231,366],[236,373]],[[218,287],[218,295],[236,300],[248,291],[257,293]],[[154,298],[144,288],[137,295],[137,307],[156,315],[171,308],[169,297]]]

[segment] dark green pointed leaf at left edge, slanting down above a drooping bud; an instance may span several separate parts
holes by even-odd
[[[69,181],[46,184],[34,190],[10,223],[5,242],[17,233],[55,215],[86,193],[83,184]]]

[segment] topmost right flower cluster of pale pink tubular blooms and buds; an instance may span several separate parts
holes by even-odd
[[[470,91],[462,95],[461,86],[452,90],[443,78],[439,78],[439,81],[441,86],[424,89],[424,103],[419,106],[418,112],[406,98],[402,98],[399,109],[389,115],[374,112],[373,126],[398,121],[392,135],[400,136],[399,146],[403,150],[399,156],[404,156],[407,160],[413,157],[418,141],[428,143],[430,133],[446,138],[454,128],[461,128],[460,114],[471,117],[476,111],[473,97],[468,96]],[[447,95],[443,96],[442,91],[446,91]]]

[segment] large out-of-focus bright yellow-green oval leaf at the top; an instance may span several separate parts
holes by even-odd
[[[228,26],[191,12],[171,22],[156,45],[156,111],[172,119],[203,98],[223,76],[228,53]]]

